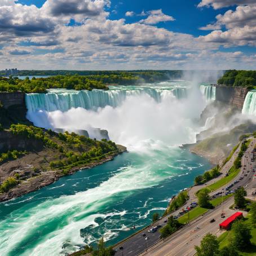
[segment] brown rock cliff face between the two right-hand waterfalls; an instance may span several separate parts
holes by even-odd
[[[246,87],[216,86],[216,100],[242,109],[248,91]]]

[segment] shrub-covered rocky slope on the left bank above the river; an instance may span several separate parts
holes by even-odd
[[[35,126],[13,124],[10,129],[1,133],[2,137],[8,137],[2,142],[8,144],[2,145],[2,151],[4,148],[11,148],[0,155],[1,192],[16,186],[22,179],[31,178],[42,172],[55,170],[60,176],[66,175],[74,167],[104,161],[120,152],[120,148],[114,142],[105,139],[99,141],[68,132],[56,134]],[[20,161],[17,161],[17,158],[20,158]],[[12,161],[6,162],[7,160]],[[16,169],[17,171],[12,171]],[[8,177],[12,179],[9,180]]]

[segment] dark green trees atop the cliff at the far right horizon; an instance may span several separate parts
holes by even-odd
[[[218,85],[226,86],[256,86],[255,70],[228,70],[219,78]]]

